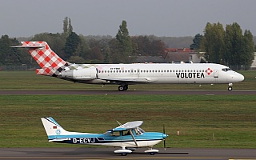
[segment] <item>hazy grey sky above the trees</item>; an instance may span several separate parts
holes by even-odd
[[[118,33],[122,20],[131,36],[203,34],[206,23],[237,22],[256,36],[255,0],[2,0],[0,36],[62,33],[63,20],[83,35]]]

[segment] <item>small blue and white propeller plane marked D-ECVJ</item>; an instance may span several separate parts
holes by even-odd
[[[107,130],[104,134],[89,134],[66,131],[54,120],[54,118],[41,118],[46,130],[49,142],[61,142],[71,144],[85,144],[98,146],[118,146],[121,150],[115,150],[115,154],[126,155],[132,153],[138,147],[149,147],[145,153],[154,155],[159,150],[152,147],[168,137],[165,133],[145,132],[139,126],[142,121],[126,122],[118,127]],[[165,132],[165,129],[164,129]]]

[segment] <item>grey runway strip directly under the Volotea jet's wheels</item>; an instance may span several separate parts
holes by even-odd
[[[158,90],[0,90],[0,95],[22,95],[22,94],[118,94],[118,95],[129,95],[129,94],[159,94],[159,95],[255,95],[256,90],[170,90],[170,91],[158,91]]]

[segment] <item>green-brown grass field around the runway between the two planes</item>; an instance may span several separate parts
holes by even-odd
[[[234,90],[255,90],[254,72],[242,74],[246,80],[235,83]],[[34,72],[0,75],[1,90],[117,90],[117,86],[74,84]],[[132,87],[198,89],[195,85]],[[226,85],[202,88],[226,90]],[[66,130],[92,133],[118,126],[116,120],[142,120],[146,131],[161,132],[165,124],[168,147],[256,148],[255,95],[0,95],[0,147],[81,147],[47,142],[40,120],[46,116],[54,117]]]

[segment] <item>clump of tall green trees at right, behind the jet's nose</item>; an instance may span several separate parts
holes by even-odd
[[[254,60],[256,47],[250,30],[242,33],[238,23],[226,25],[224,30],[220,22],[208,22],[204,35],[196,34],[190,48],[205,52],[207,62],[238,66],[238,70],[243,66],[248,70]]]

